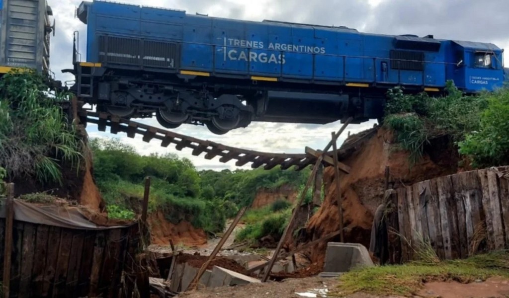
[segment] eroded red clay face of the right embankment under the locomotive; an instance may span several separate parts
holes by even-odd
[[[394,188],[457,172],[457,160],[451,155],[444,159],[437,154],[430,157],[426,152],[416,165],[410,167],[407,152],[399,150],[391,142],[392,135],[380,128],[359,150],[342,160],[352,168],[350,174],[340,173],[346,242],[369,247],[373,215],[384,193],[385,166],[390,167],[390,181]],[[443,143],[443,140],[436,140],[430,152],[433,152],[433,146],[447,147]],[[440,148],[440,152],[445,154],[446,150]],[[325,168],[325,200],[319,211],[309,219],[304,242],[317,240],[339,229],[335,183],[333,168]],[[338,237],[332,241],[338,241]],[[326,244],[315,246],[309,252],[312,262],[323,266],[325,251]]]

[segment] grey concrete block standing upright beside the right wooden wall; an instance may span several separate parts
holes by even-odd
[[[347,272],[359,266],[374,266],[369,252],[363,245],[337,242],[327,244],[324,272]]]

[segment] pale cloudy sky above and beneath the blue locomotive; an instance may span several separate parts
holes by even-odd
[[[120,1],[120,0],[119,0]],[[56,36],[51,45],[51,68],[57,78],[69,80],[60,71],[71,68],[72,36],[78,30],[81,35],[80,51],[84,57],[86,26],[74,18],[74,10],[80,0],[48,0],[56,18]],[[433,34],[439,39],[458,39],[492,42],[501,48],[509,48],[509,3],[507,0],[123,0],[123,3],[185,10],[209,16],[261,21],[263,19],[320,25],[348,26],[361,32],[380,34]],[[155,118],[141,122],[158,126]],[[375,122],[351,125],[349,131],[356,133],[372,127]],[[258,151],[278,153],[303,153],[305,146],[322,149],[332,131],[340,123],[328,125],[292,125],[252,123],[246,129],[237,129],[217,136],[205,127],[183,125],[175,131],[197,138],[209,139],[231,146]],[[146,143],[141,137],[127,138],[125,134],[111,135],[97,131],[90,125],[91,137],[117,137],[132,144],[141,154],[177,153],[191,159],[198,168],[235,168],[235,162],[221,164],[218,158],[205,160],[193,157],[191,150],[177,151],[175,147],[162,148],[158,141]],[[345,134],[346,136],[346,134]],[[345,136],[338,142],[344,141]],[[249,167],[249,164],[246,165]]]

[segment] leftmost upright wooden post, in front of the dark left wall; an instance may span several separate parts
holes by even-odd
[[[4,297],[9,298],[11,284],[12,230],[14,221],[14,184],[7,184],[5,206],[5,245],[4,245]]]

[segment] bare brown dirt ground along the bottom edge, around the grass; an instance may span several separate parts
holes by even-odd
[[[284,282],[267,282],[236,287],[208,288],[178,295],[182,298],[299,298],[299,297],[334,297],[331,290],[338,285],[332,278],[310,277],[288,279]],[[426,285],[416,297],[426,298],[482,298],[509,297],[509,280],[499,278],[485,282],[459,284],[456,282],[433,282]],[[363,293],[349,295],[347,298],[402,298],[397,296],[374,296]]]

